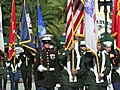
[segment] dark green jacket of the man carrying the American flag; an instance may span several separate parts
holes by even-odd
[[[76,75],[77,76],[77,82],[70,82],[69,81],[69,74],[67,72],[67,70],[64,69],[64,67],[67,67],[67,55],[70,55],[70,61],[72,63],[72,55],[71,55],[71,51],[69,50],[65,50],[64,48],[60,49],[58,51],[58,59],[61,61],[61,64],[63,66],[62,70],[61,70],[61,77],[62,77],[62,81],[61,83],[63,85],[66,85],[66,86],[69,86],[69,87],[82,87],[84,85],[84,81],[85,81],[85,78],[82,77],[85,73],[85,67],[84,67],[84,55],[80,52],[81,54],[81,61],[80,61],[80,69],[77,70],[78,71],[78,74]],[[75,55],[75,58],[74,58],[74,62],[75,62],[75,67],[77,65],[77,58],[76,58],[76,54]],[[72,65],[72,64],[71,64]],[[72,66],[71,66],[71,69],[72,69]]]

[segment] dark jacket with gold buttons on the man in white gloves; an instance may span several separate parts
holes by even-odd
[[[35,70],[35,83],[37,87],[53,88],[59,80],[57,77],[58,62],[57,53],[51,49],[43,49],[36,56],[36,63],[34,64]],[[38,71],[39,65],[43,65],[46,70],[43,72]]]

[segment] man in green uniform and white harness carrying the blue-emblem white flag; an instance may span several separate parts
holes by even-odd
[[[109,43],[106,44],[109,46]],[[88,86],[88,90],[107,90],[107,75],[110,72],[110,58],[108,53],[100,51],[101,42],[97,44],[97,55],[98,55],[98,64],[95,58],[95,55],[91,52],[85,55],[85,66],[88,68],[88,76],[85,81],[85,84]],[[99,72],[98,72],[99,67]]]

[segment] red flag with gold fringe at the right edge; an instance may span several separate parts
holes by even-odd
[[[111,37],[116,39],[116,48],[120,51],[120,2],[114,1]]]

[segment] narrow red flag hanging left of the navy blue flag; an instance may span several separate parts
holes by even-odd
[[[14,52],[15,32],[16,32],[16,12],[15,12],[15,0],[13,0],[11,20],[10,20],[8,60],[11,60]]]

